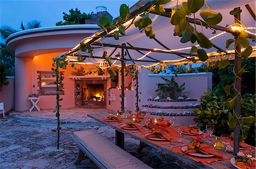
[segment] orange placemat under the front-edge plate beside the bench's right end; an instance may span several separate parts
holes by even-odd
[[[228,157],[228,158],[225,158],[223,160],[219,160],[220,158],[217,158],[217,157],[209,157],[209,158],[205,158],[205,157],[194,157],[192,155],[189,155],[189,154],[185,154],[182,150],[181,150],[182,146],[177,146],[177,147],[168,147],[167,149],[170,149],[172,151],[174,151],[175,153],[179,153],[179,154],[183,154],[185,157],[187,158],[190,158],[196,162],[201,162],[205,165],[210,165],[210,164],[216,164],[216,163],[221,163],[221,162],[224,162],[226,160],[230,160],[231,157]],[[212,160],[219,160],[217,162],[213,162],[213,163],[207,163],[209,161],[212,161]]]

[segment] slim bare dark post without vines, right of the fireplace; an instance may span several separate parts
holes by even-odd
[[[122,44],[122,46],[125,46],[125,44]],[[122,105],[121,105],[121,112],[122,114],[125,112],[125,49],[122,48],[121,50],[121,95],[122,95]]]

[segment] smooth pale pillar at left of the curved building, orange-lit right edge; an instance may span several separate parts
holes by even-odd
[[[15,57],[15,111],[28,111],[32,92],[32,57]]]

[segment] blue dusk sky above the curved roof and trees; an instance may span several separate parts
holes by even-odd
[[[96,11],[97,6],[106,6],[108,12],[115,18],[119,16],[119,7],[122,3],[133,6],[137,1],[117,0],[0,0],[0,26],[8,25],[15,29],[20,28],[20,23],[30,20],[39,20],[42,27],[55,26],[56,22],[63,20],[62,12],[69,13],[70,9],[78,8],[81,12]]]

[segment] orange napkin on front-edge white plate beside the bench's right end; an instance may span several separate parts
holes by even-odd
[[[188,147],[187,150],[185,150],[185,153],[196,153],[196,152],[197,152],[196,149],[190,149],[189,147]],[[202,153],[202,154],[205,154],[205,155],[212,154],[212,155],[214,155],[215,157],[218,157],[218,158],[223,158],[224,157],[224,155],[222,155],[222,154],[218,153],[216,150],[214,150],[213,147],[211,147],[209,145],[206,145],[206,144],[200,144],[198,152]]]

